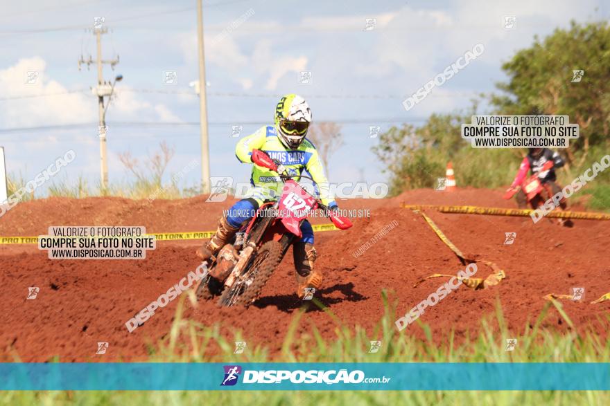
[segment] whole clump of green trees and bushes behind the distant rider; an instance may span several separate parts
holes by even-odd
[[[496,114],[556,114],[580,126],[580,138],[565,150],[568,163],[582,167],[592,147],[610,147],[610,26],[606,22],[557,29],[503,64],[509,80],[491,95]],[[578,80],[574,71],[584,71]],[[476,113],[433,114],[421,127],[403,124],[379,136],[373,148],[390,174],[390,192],[433,187],[453,161],[458,185],[499,187],[512,181],[519,167],[517,149],[473,149],[460,126]],[[593,155],[593,154],[591,154]],[[578,159],[577,159],[577,158]],[[578,161],[578,162],[576,162]],[[569,171],[569,166],[568,166]],[[571,178],[571,176],[570,176]]]

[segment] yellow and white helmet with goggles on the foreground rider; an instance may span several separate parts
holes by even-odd
[[[297,149],[307,135],[310,122],[309,105],[299,95],[285,95],[275,107],[275,130],[284,147]]]

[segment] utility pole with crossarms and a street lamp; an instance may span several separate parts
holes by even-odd
[[[102,192],[105,192],[108,187],[108,163],[106,158],[106,109],[108,104],[110,104],[110,96],[114,92],[114,84],[123,79],[123,76],[117,75],[112,84],[104,81],[103,76],[103,64],[109,64],[110,67],[114,70],[114,65],[119,63],[119,57],[116,59],[103,60],[102,59],[102,34],[106,34],[108,29],[103,26],[103,19],[100,21],[96,21],[94,24],[93,33],[96,36],[96,44],[97,44],[97,57],[96,60],[93,60],[91,56],[89,59],[85,60],[80,56],[78,60],[78,70],[80,71],[81,64],[87,64],[87,68],[91,64],[97,64],[98,67],[98,85],[92,88],[92,93],[98,97],[98,136],[100,138],[100,185]],[[108,102],[106,106],[104,106],[104,97],[108,97]]]

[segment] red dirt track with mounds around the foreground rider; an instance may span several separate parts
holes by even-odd
[[[433,293],[446,279],[413,284],[433,273],[455,274],[464,267],[440,241],[419,214],[401,209],[399,203],[454,204],[514,207],[502,192],[466,189],[457,192],[415,190],[394,199],[339,201],[345,209],[369,208],[370,218],[354,219],[347,231],[316,233],[324,270],[321,301],[347,326],[359,324],[372,331],[383,315],[381,290],[397,302],[400,317]],[[20,203],[0,219],[0,236],[46,234],[51,225],[144,225],[147,232],[200,231],[215,228],[216,220],[232,201],[205,203],[202,196],[180,201],[131,201],[119,198],[44,199]],[[507,278],[487,290],[460,287],[420,320],[429,324],[437,342],[455,330],[458,340],[476,332],[483,315],[493,313],[499,300],[509,329],[521,333],[528,320],[539,315],[548,293],[568,294],[572,287],[586,288],[586,300],[564,300],[564,309],[578,329],[586,326],[605,333],[598,316],[608,313],[610,302],[589,304],[610,292],[609,223],[575,221],[561,228],[549,221],[530,218],[442,214],[428,211],[446,236],[467,256],[494,261]],[[385,225],[399,226],[354,258],[351,252],[371,239]],[[324,223],[317,219],[314,223]],[[516,232],[513,245],[504,245],[505,232]],[[15,359],[44,362],[58,356],[64,362],[146,360],[147,344],[166,336],[178,299],[157,310],[133,333],[125,322],[165,293],[199,262],[193,255],[201,240],[157,242],[143,261],[49,260],[35,245],[0,245],[0,361]],[[480,264],[476,277],[491,269]],[[39,286],[37,299],[27,300],[28,286]],[[248,347],[268,346],[279,352],[290,321],[299,309],[295,295],[292,253],[289,251],[261,298],[250,308],[218,308],[213,302],[193,307],[185,302],[184,317],[203,324],[222,322],[221,332],[234,341],[242,331]],[[299,331],[315,324],[324,338],[335,338],[336,321],[324,311],[308,311]],[[567,329],[555,309],[544,326]],[[407,334],[423,338],[417,325]],[[502,338],[498,337],[498,340]],[[96,356],[97,342],[109,342],[104,356]]]

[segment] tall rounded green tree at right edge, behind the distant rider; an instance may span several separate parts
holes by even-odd
[[[520,50],[502,68],[509,82],[497,84],[502,95],[491,102],[502,114],[568,115],[580,125],[580,138],[570,140],[566,158],[572,163],[575,151],[610,145],[610,27],[607,22],[581,26],[574,21],[568,30],[556,29]],[[583,70],[580,82],[573,71]]]

